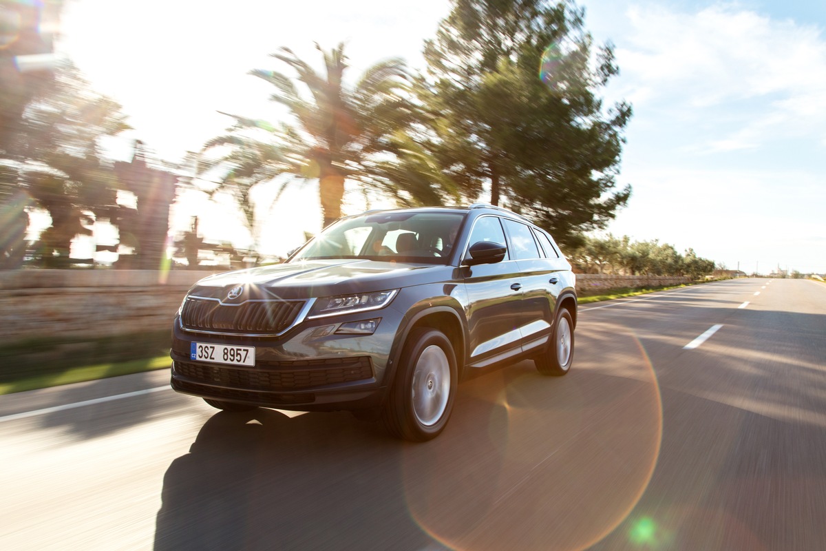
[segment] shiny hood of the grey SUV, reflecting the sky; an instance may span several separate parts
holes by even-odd
[[[218,273],[196,283],[190,294],[220,298],[225,302],[325,297],[449,281],[456,269],[453,266],[367,259],[310,260]],[[244,287],[240,297],[228,299],[230,289],[238,286]]]

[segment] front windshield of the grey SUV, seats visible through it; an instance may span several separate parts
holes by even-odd
[[[381,212],[339,221],[291,259],[374,259],[447,264],[463,214]]]

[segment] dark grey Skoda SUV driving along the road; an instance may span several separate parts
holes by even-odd
[[[434,438],[477,368],[564,375],[575,276],[548,233],[489,205],[343,218],[284,264],[202,279],[175,316],[172,386],[211,406],[379,415]]]

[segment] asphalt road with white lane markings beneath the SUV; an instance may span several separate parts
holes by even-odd
[[[0,397],[0,549],[826,549],[826,285],[586,305],[576,337],[425,444],[165,370]]]

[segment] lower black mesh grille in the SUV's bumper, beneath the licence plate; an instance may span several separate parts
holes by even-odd
[[[367,356],[268,362],[253,369],[176,361],[175,373],[192,381],[221,387],[278,392],[370,379],[373,378],[373,367]]]

